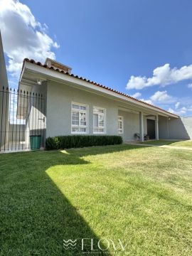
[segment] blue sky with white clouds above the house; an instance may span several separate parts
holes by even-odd
[[[7,1],[14,4],[7,7]],[[137,93],[137,98],[171,112],[192,115],[192,1],[23,0],[19,5],[16,0],[0,0],[0,4],[2,2],[6,8],[5,14],[0,14],[0,28],[2,21],[9,24],[8,13],[14,14],[10,26],[1,28],[5,45],[10,36],[4,33],[13,29],[16,14],[35,33],[40,31],[52,40],[44,36],[44,44],[39,46],[41,37],[38,37],[37,43],[33,43],[37,50],[28,48],[21,56],[25,53],[26,58],[43,61],[48,55],[69,65],[77,75],[129,95]],[[31,12],[30,21],[23,15],[22,10],[27,14],[23,4]],[[17,34],[26,33],[23,41],[16,41],[21,50],[33,42],[33,37],[25,23],[19,19],[16,22],[21,25],[15,29]],[[13,47],[6,46],[5,52],[9,80],[16,86],[21,59],[14,55]],[[10,60],[13,63],[10,64]]]

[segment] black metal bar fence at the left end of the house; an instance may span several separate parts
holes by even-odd
[[[0,90],[0,152],[43,148],[45,132],[43,95],[3,87]]]

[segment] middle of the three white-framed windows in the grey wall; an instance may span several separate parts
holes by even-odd
[[[93,133],[105,133],[105,109],[101,107],[93,107]]]

